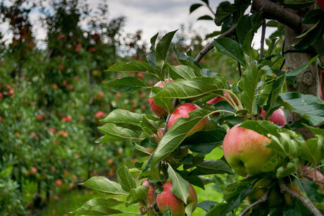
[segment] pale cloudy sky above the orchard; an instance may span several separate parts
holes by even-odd
[[[209,0],[209,5],[216,11],[216,7],[222,0]],[[234,0],[230,0],[233,2]],[[87,0],[91,8],[96,8],[100,0]],[[180,28],[181,24],[187,27],[192,24],[192,28],[201,35],[206,35],[220,27],[216,26],[212,20],[197,20],[200,16],[213,16],[206,6],[201,6],[193,13],[189,14],[189,8],[192,4],[204,4],[201,0],[107,0],[108,18],[113,19],[119,16],[126,17],[124,34],[135,33],[142,30],[142,40],[149,43],[149,39],[156,32],[170,32]],[[34,24],[34,32],[37,40],[44,40],[46,32],[39,21],[39,12],[30,13],[31,23]],[[8,32],[6,23],[0,24],[2,32]],[[267,35],[270,33],[267,32]],[[258,48],[260,41],[260,32],[255,35],[254,47]],[[5,34],[5,38],[10,38],[10,34]]]

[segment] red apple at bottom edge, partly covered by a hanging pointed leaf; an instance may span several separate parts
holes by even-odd
[[[167,205],[169,205],[173,216],[183,216],[185,215],[185,203],[177,198],[177,196],[172,193],[172,182],[168,181],[163,184],[162,193],[158,193],[156,196],[156,204],[158,209],[163,213],[166,211]],[[197,205],[197,193],[194,191],[194,187],[189,184],[189,197],[187,198],[187,205],[189,203],[194,203]],[[193,210],[196,207],[194,206]]]

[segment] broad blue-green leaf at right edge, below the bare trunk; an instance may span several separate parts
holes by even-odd
[[[300,114],[311,121],[313,125],[324,123],[324,102],[313,95],[303,95],[299,92],[280,93],[279,102],[290,112]]]

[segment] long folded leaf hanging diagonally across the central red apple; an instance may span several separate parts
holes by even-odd
[[[199,121],[206,118],[208,114],[210,114],[210,112],[206,109],[196,109],[189,113],[189,118],[180,118],[175,121],[175,124],[169,128],[168,132],[158,144],[158,148],[156,148],[152,156],[151,166],[156,166],[158,162],[168,157],[168,155],[180,145],[182,140],[185,139],[187,134],[192,131],[192,128],[194,128]]]

